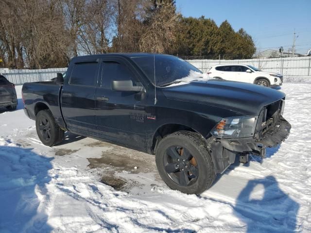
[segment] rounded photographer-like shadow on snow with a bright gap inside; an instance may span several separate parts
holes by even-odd
[[[249,233],[295,232],[299,204],[279,188],[274,176],[248,181],[233,208]]]

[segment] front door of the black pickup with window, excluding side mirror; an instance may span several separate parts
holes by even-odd
[[[101,78],[96,91],[96,120],[98,136],[143,148],[145,146],[145,93],[115,91],[112,81],[131,80],[138,76],[122,58],[105,57],[101,64]]]

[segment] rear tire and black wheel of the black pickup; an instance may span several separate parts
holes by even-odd
[[[41,142],[49,147],[62,142],[64,131],[57,125],[50,110],[41,110],[35,118],[35,128]]]

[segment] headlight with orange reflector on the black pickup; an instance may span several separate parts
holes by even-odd
[[[256,123],[256,116],[227,117],[212,129],[211,134],[217,138],[252,137]]]

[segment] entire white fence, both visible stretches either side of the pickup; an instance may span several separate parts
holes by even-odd
[[[311,80],[311,57],[285,57],[268,59],[244,59],[244,60],[188,60],[192,65],[207,72],[207,70],[218,64],[245,64],[258,67],[261,70],[280,73],[284,76],[284,81],[304,81]],[[10,82],[23,84],[27,82],[38,82],[51,80],[56,77],[56,73],[63,73],[67,68],[51,69],[0,69]]]

